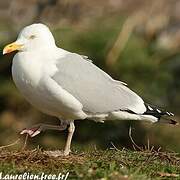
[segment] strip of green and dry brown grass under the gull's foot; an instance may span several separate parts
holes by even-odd
[[[68,179],[180,179],[180,154],[154,150],[91,150],[49,157],[41,149],[0,151],[0,172],[59,174]]]

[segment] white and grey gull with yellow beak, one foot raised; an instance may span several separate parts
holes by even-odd
[[[74,120],[139,120],[176,124],[174,114],[146,104],[127,84],[113,79],[87,56],[56,46],[49,28],[41,23],[26,26],[3,54],[18,51],[12,63],[13,80],[24,98],[41,112],[55,116],[59,126],[38,124],[21,134],[36,136],[46,129],[65,130],[63,155],[71,152]]]

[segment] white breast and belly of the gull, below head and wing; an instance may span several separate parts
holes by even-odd
[[[47,60],[47,56],[39,58],[36,55],[21,52],[13,59],[13,80],[33,106],[46,114],[63,119],[86,118],[78,100],[55,82],[48,84],[48,80],[56,70],[55,63],[51,59]]]

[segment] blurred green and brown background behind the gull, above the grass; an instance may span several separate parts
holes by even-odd
[[[0,144],[39,122],[58,124],[33,108],[11,77],[14,54],[4,45],[32,23],[47,24],[57,45],[87,55],[113,78],[124,81],[149,104],[168,109],[180,121],[180,1],[178,0],[1,0],[0,1]],[[90,75],[90,74],[89,74]],[[103,91],[103,89],[102,89]],[[76,121],[76,148],[139,146],[180,152],[180,127],[133,121]],[[63,147],[65,132],[47,131],[29,139],[29,147]]]

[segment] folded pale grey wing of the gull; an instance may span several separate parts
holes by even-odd
[[[52,78],[78,99],[86,112],[131,110],[141,114],[146,110],[137,94],[78,54],[60,58],[57,68]]]

